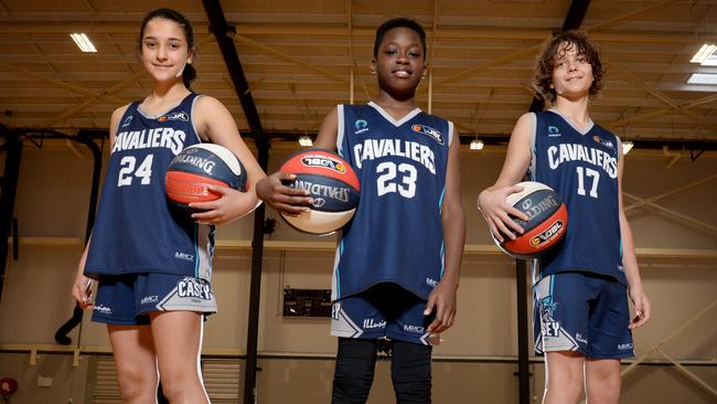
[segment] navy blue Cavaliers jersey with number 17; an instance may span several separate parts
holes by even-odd
[[[529,177],[553,188],[568,210],[561,245],[541,256],[534,281],[566,270],[625,284],[618,204],[620,139],[598,125],[579,130],[557,110],[532,114]]]

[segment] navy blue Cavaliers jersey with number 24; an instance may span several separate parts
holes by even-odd
[[[110,152],[85,275],[162,273],[210,279],[214,226],[173,212],[164,194],[167,168],[201,142],[192,121],[196,94],[160,116],[132,103]]]

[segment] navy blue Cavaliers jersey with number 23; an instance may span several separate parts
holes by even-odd
[[[441,205],[453,124],[414,109],[400,120],[374,103],[339,105],[336,149],[361,199],[342,230],[332,299],[395,283],[427,299],[443,274]]]

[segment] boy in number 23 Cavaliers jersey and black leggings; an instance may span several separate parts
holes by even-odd
[[[341,233],[332,281],[331,333],[339,337],[332,403],[365,403],[376,347],[389,340],[398,403],[429,403],[431,341],[453,325],[464,243],[451,121],[416,107],[426,74],[426,34],[394,19],[376,31],[378,97],[339,105],[315,146],[336,150],[361,181],[361,201]],[[275,173],[257,184],[271,206],[301,214],[312,203]]]

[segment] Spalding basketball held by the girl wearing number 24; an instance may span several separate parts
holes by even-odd
[[[210,184],[246,192],[244,166],[232,151],[220,145],[190,146],[176,155],[167,169],[167,198],[179,206],[218,199],[221,194],[212,192],[207,188]]]

